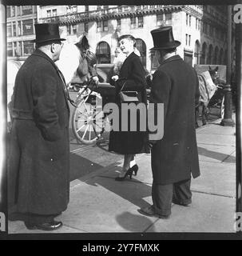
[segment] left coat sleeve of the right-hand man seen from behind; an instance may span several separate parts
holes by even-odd
[[[167,109],[169,105],[169,95],[170,95],[170,90],[172,86],[172,82],[169,78],[169,76],[162,70],[157,70],[153,74],[153,86],[151,88],[151,94],[150,94],[150,101],[149,101],[149,106],[150,103],[153,103],[154,105],[154,121],[157,123],[157,103],[163,103],[164,104],[164,125],[165,125],[165,118],[167,114]],[[152,134],[152,133],[150,133]],[[156,141],[151,141],[153,144]]]

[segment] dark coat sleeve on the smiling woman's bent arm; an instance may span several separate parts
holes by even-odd
[[[125,82],[123,90],[144,90],[146,88],[145,70],[140,58],[133,58],[131,65],[131,78]]]

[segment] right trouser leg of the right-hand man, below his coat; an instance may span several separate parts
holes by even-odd
[[[173,202],[181,205],[192,202],[191,179],[173,184]]]

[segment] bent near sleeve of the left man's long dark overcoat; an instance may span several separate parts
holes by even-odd
[[[61,127],[57,112],[57,75],[56,70],[48,66],[36,70],[32,83],[34,98],[34,120],[42,132],[43,138],[48,141],[57,141],[61,138]]]

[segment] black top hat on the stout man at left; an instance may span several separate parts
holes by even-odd
[[[36,38],[33,42],[52,42],[63,41],[64,38],[60,38],[58,23],[41,23],[34,24]]]

